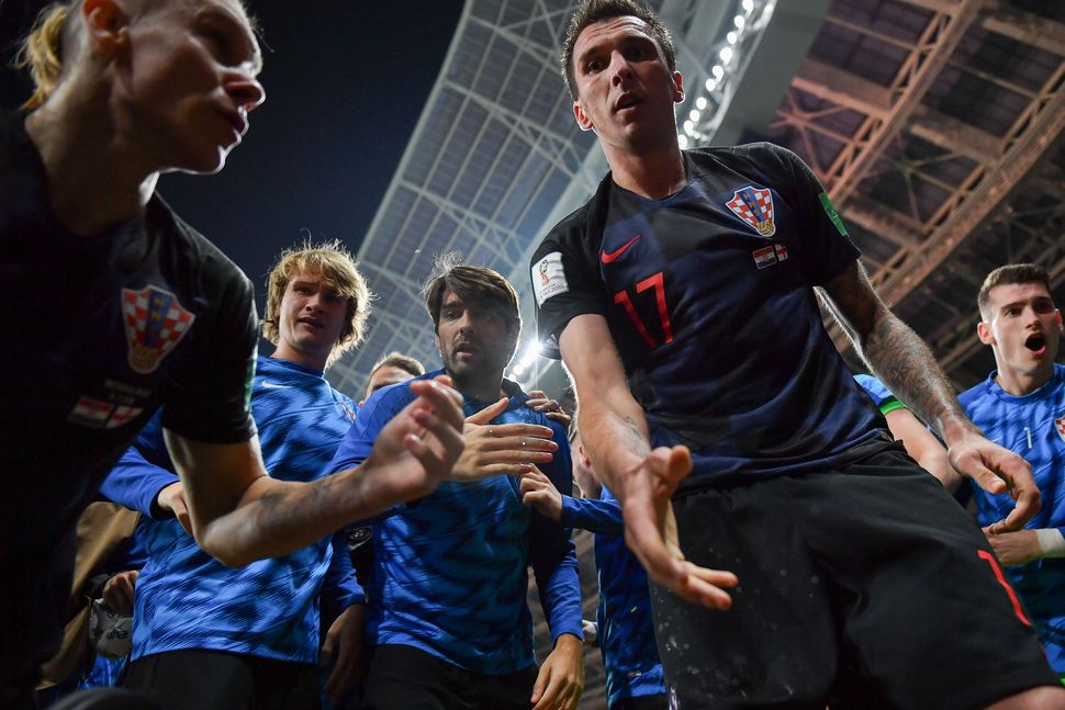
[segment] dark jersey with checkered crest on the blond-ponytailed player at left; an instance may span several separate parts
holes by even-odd
[[[71,233],[25,115],[0,113],[0,686],[58,647],[78,516],[160,404],[190,439],[255,435],[250,282],[158,196]]]

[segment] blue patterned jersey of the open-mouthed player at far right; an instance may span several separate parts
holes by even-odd
[[[984,382],[959,397],[965,414],[984,435],[1032,464],[1042,507],[1025,528],[1056,528],[1065,533],[1065,365],[1042,387],[1016,397],[995,382]],[[993,495],[966,478],[980,526],[997,522],[1013,509],[1007,494]],[[1065,673],[1065,559],[1033,560],[1006,574],[1032,616],[1051,666]]]

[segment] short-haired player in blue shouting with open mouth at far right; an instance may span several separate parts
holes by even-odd
[[[991,271],[977,305],[977,335],[995,353],[996,369],[959,401],[988,438],[1032,464],[1043,499],[1023,530],[990,529],[988,540],[1065,680],[1065,365],[1056,361],[1062,312],[1046,270],[1031,263]],[[982,526],[1009,508],[1005,495],[969,488]]]

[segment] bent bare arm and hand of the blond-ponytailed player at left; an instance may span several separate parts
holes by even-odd
[[[312,483],[271,478],[257,438],[212,444],[164,430],[197,542],[240,566],[434,491],[462,452],[462,409],[458,394],[439,382],[410,386],[418,397],[382,429],[360,466]]]

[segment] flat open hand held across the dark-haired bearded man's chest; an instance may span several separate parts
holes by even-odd
[[[559,444],[554,432],[537,424],[489,424],[506,412],[508,399],[490,404],[467,418],[466,450],[455,464],[455,481],[480,481],[500,474],[518,475],[537,463],[550,463]]]

